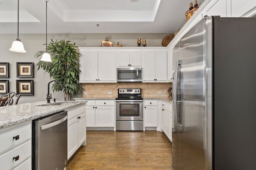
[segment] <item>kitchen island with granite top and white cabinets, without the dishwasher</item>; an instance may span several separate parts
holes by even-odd
[[[0,107],[0,164],[3,169],[32,169],[32,121],[60,111],[67,115],[67,159],[86,145],[86,102],[33,102]]]

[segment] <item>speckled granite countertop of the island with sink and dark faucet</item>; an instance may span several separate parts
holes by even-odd
[[[74,106],[84,105],[86,102],[87,101],[58,101],[51,103],[51,105],[56,103],[65,103],[65,105],[52,107],[48,106],[46,101],[2,106],[0,107],[0,129],[22,123],[24,121],[37,119]]]

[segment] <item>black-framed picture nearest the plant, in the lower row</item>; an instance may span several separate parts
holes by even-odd
[[[34,80],[16,80],[17,94],[34,95]]]

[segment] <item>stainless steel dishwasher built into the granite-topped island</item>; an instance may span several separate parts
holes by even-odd
[[[32,121],[32,169],[64,170],[67,165],[67,111]]]

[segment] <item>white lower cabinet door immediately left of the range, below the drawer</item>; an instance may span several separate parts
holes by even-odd
[[[114,106],[97,106],[95,111],[95,127],[114,127]]]

